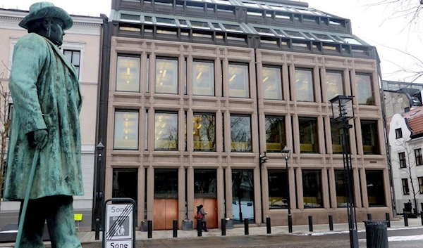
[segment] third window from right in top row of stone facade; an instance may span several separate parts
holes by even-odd
[[[297,90],[297,100],[303,102],[314,102],[312,70],[295,69],[295,85]]]

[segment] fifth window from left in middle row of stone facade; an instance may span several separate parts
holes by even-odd
[[[266,117],[266,150],[267,152],[281,152],[286,145],[285,118]]]

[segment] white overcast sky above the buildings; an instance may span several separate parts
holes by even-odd
[[[50,1],[75,15],[99,15],[100,13],[109,15],[111,6],[111,0]],[[422,63],[419,60],[400,53],[396,49],[423,60],[423,51],[419,47],[422,41],[418,32],[419,22],[410,25],[410,18],[392,17],[393,13],[398,13],[400,10],[398,6],[391,4],[371,6],[381,1],[387,0],[308,0],[305,2],[309,3],[311,8],[350,19],[353,34],[376,46],[381,58],[384,80],[412,81],[415,74],[401,72],[403,68],[423,71],[423,65],[420,66]],[[418,4],[417,0],[408,1]],[[34,2],[34,0],[0,0],[0,7],[28,10]],[[412,6],[407,6],[407,8],[410,7]],[[423,77],[417,79],[416,82],[423,84]]]

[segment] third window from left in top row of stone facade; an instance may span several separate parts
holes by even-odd
[[[194,73],[192,74],[194,95],[214,96],[214,63],[194,61]]]

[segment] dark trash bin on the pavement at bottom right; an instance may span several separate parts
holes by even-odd
[[[367,248],[388,248],[388,221],[364,221]]]

